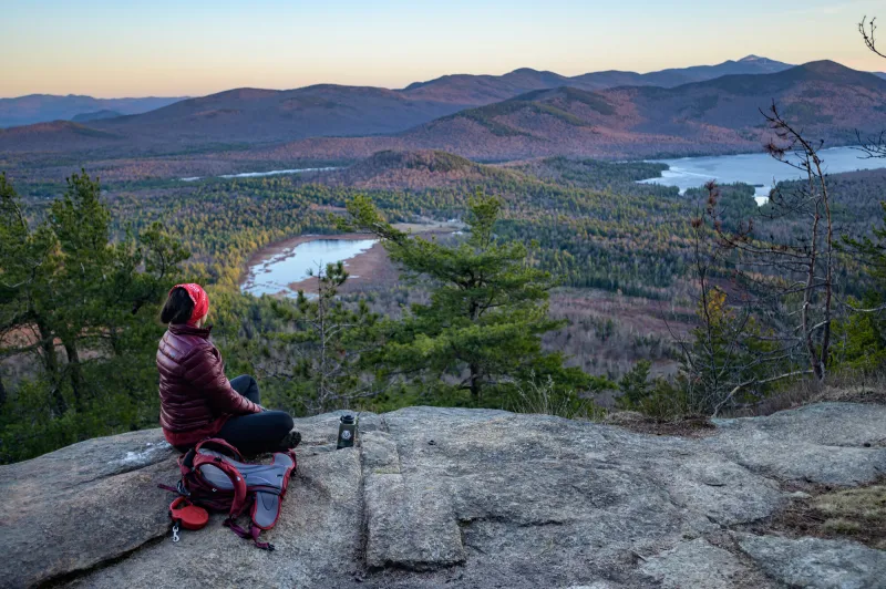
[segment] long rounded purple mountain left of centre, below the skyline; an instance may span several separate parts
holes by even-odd
[[[276,91],[236,89],[176,102],[137,115],[90,122],[90,127],[125,137],[130,154],[175,153],[280,143],[312,136],[396,133],[470,104],[426,101],[379,87],[331,84]],[[82,111],[81,111],[82,112]],[[3,142],[4,152],[33,146]],[[120,145],[58,142],[47,137],[49,151],[102,149],[119,153]]]

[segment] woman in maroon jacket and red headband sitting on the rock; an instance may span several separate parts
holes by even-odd
[[[159,423],[166,440],[185,452],[207,437],[220,437],[245,454],[295,447],[301,436],[292,417],[260,403],[253,376],[228,381],[218,349],[204,327],[209,299],[199,285],[169,290],[161,320],[168,324],[157,350]]]

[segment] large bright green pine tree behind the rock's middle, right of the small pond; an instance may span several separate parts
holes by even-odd
[[[468,204],[466,238],[443,244],[411,236],[382,219],[363,196],[348,204],[348,225],[375,234],[395,262],[430,290],[389,334],[381,360],[403,376],[424,376],[439,394],[468,394],[474,405],[503,405],[519,381],[552,378],[558,391],[600,385],[581,370],[564,366],[562,353],[542,350],[542,335],[564,323],[548,313],[555,286],[537,269],[532,250],[495,235],[498,198],[477,194]]]

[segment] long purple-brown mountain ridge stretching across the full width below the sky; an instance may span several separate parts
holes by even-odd
[[[373,86],[233,89],[83,128],[61,127],[64,133],[54,136],[48,128],[17,132],[28,136],[19,142],[0,134],[0,151],[104,149],[117,156],[121,149],[168,153],[171,145],[246,145],[275,161],[353,161],[383,149],[442,149],[482,161],[720,154],[754,151],[764,142],[760,110],[773,100],[833,145],[855,141],[856,128],[886,127],[886,81],[826,60],[674,87],[588,90],[527,69],[508,80],[540,87],[481,104]]]

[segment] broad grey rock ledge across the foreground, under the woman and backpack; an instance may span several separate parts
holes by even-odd
[[[680,438],[499,411],[297,421],[277,550],[214,516],[168,539],[175,453],[158,431],[0,467],[0,586],[886,587],[884,552],[752,535],[792,484],[886,474],[886,406],[825,403]],[[879,585],[878,585],[879,583]]]

